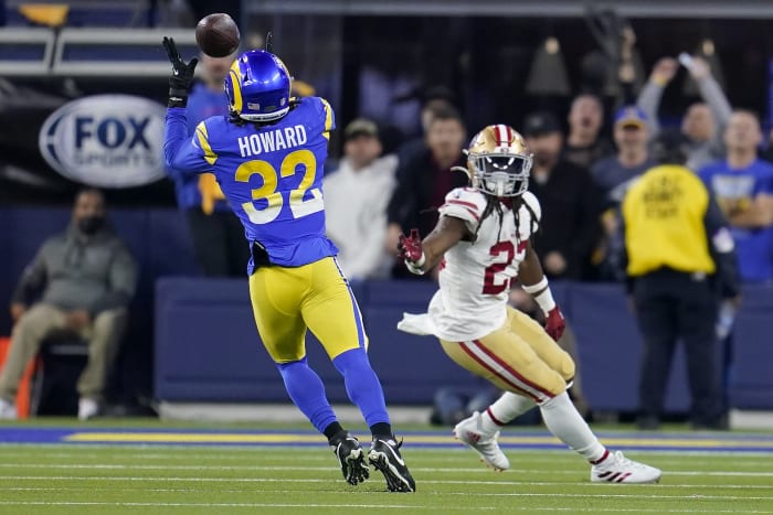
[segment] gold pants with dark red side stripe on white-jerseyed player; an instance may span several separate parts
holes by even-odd
[[[441,340],[441,344],[473,374],[537,403],[563,393],[574,376],[572,357],[540,324],[512,308],[505,324],[490,334],[470,342]]]

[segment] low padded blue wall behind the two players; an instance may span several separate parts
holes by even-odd
[[[554,283],[578,337],[585,394],[597,410],[636,409],[642,347],[617,285]],[[390,404],[426,405],[442,386],[479,382],[454,364],[436,340],[405,334],[403,311],[422,312],[435,291],[426,281],[372,281],[354,286],[370,336],[369,354]],[[773,408],[773,348],[765,334],[773,291],[749,288],[739,314],[738,358],[730,398],[738,408]],[[156,397],[168,401],[286,401],[278,372],[262,348],[246,281],[163,278],[156,293]],[[335,314],[331,314],[335,315]],[[347,401],[338,373],[314,336],[309,362],[333,403]],[[673,364],[666,409],[689,408],[681,351]]]

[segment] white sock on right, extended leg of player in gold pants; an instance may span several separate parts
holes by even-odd
[[[603,461],[608,451],[601,444],[585,420],[569,399],[565,391],[540,406],[542,420],[555,437],[572,450],[596,464]]]

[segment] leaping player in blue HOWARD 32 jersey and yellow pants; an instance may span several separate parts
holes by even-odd
[[[325,236],[322,165],[335,118],[319,97],[290,97],[284,63],[263,50],[243,53],[225,78],[227,116],[200,122],[188,136],[186,105],[195,58],[186,63],[173,40],[163,153],[186,173],[214,173],[244,225],[252,258],[250,297],[261,340],[295,405],[322,432],[345,479],[369,475],[358,440],[336,418],[325,385],[306,361],[306,331],[319,339],[343,376],[347,394],[372,432],[368,461],[392,492],[415,483],[392,432],[381,384],[366,353],[368,336],[349,283]]]

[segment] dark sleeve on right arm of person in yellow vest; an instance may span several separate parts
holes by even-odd
[[[740,280],[735,243],[713,195],[709,196],[703,225],[709,239],[709,253],[717,266],[717,283],[720,294],[723,298],[737,297],[740,293]]]

